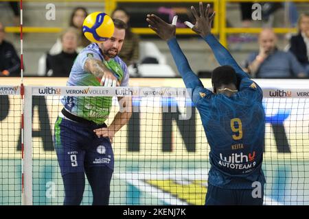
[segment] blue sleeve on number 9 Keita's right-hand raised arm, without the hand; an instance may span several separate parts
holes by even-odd
[[[234,68],[236,71],[236,74],[240,78],[248,77],[246,73],[238,66],[237,62],[234,60],[234,58],[231,56],[231,53],[225,49],[225,47],[218,42],[218,40],[214,37],[212,34],[208,34],[203,38],[208,44],[209,47],[214,52],[214,55],[216,57],[216,60],[219,62],[221,66],[229,65]]]

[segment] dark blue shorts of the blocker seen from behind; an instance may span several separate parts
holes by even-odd
[[[205,205],[263,205],[264,186],[261,198],[253,198],[252,191],[223,189],[208,183]]]

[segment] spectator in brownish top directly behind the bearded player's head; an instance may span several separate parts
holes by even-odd
[[[112,18],[117,18],[124,21],[128,28],[126,29],[126,38],[122,45],[122,51],[119,53],[119,57],[124,60],[127,66],[130,64],[137,64],[139,60],[139,36],[134,34],[130,29],[130,16],[124,8],[116,8],[111,14]]]

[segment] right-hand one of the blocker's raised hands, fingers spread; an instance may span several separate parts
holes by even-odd
[[[185,21],[185,25],[190,27],[196,34],[199,34],[203,38],[210,34],[211,31],[211,23],[214,21],[215,12],[211,14],[209,12],[210,5],[207,4],[206,9],[203,7],[203,3],[200,1],[200,15],[196,12],[195,8],[191,6],[192,14],[196,20],[196,23],[193,25],[189,21]]]

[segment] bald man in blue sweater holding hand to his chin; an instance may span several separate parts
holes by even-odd
[[[304,78],[305,70],[290,52],[276,47],[277,36],[272,29],[263,29],[259,36],[260,51],[252,53],[247,70],[257,78]]]

